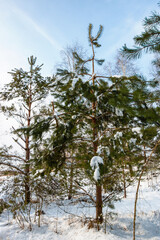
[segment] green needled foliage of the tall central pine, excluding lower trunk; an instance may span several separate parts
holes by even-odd
[[[95,38],[92,36],[92,28],[93,26],[89,25],[90,45],[97,47],[102,28]],[[147,126],[148,123],[154,124],[158,120],[159,114],[156,109],[147,104],[150,97],[153,100],[154,96],[149,92],[149,83],[143,76],[106,78],[102,75],[99,78],[96,73],[93,75],[92,69],[86,64],[97,62],[101,65],[104,62],[94,58],[94,51],[93,58],[83,60],[75,52],[74,56],[78,71],[76,70],[75,74],[65,69],[58,69],[55,87],[52,90],[55,108],[60,116],[58,119],[60,126],[56,127],[57,130],[50,138],[54,143],[51,156],[53,159],[58,157],[60,163],[65,163],[64,152],[74,152],[79,169],[83,169],[86,176],[95,182],[90,160],[95,155],[93,145],[96,141],[98,147],[103,149],[96,154],[100,155],[105,162],[100,170],[103,176],[101,184],[106,185],[109,191],[121,191],[124,162],[128,168],[127,178],[129,179],[129,174],[132,176],[135,174],[133,166],[140,168],[144,159],[140,153],[142,139],[132,132],[132,128]],[[95,110],[93,110],[93,104],[96,106]],[[97,139],[93,138],[94,128],[97,131]],[[68,130],[65,132],[64,129]],[[148,129],[150,141],[156,134],[156,131],[152,131],[153,129],[152,126]],[[117,131],[123,133],[122,138],[115,137]],[[147,129],[145,129],[143,141],[146,141],[146,132]],[[131,141],[132,138],[137,146]],[[59,147],[65,149],[63,153]],[[56,153],[60,154],[56,156],[54,155]],[[52,160],[47,161],[52,163]]]

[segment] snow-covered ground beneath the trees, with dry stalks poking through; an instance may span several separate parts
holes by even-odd
[[[148,187],[148,181],[141,184],[137,208],[137,240],[160,240],[160,187],[156,180],[152,185],[153,187]],[[115,214],[107,222],[106,232],[105,227],[97,231],[88,229],[84,224],[83,216],[94,216],[95,209],[71,204],[69,201],[64,203],[65,206],[58,207],[52,203],[44,208],[41,227],[33,223],[32,231],[20,229],[6,210],[0,215],[0,240],[131,240],[134,197],[135,187],[130,187],[127,199],[115,204],[115,209],[112,210]]]

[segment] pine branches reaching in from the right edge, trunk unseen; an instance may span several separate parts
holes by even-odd
[[[158,3],[160,6],[160,3]],[[153,11],[150,17],[146,17],[143,21],[144,31],[134,37],[134,48],[127,48],[126,45],[122,48],[122,54],[128,59],[139,58],[142,53],[155,53],[155,60],[152,61],[154,73],[153,80],[148,81],[150,88],[150,97],[144,101],[144,110],[142,110],[143,117],[141,121],[143,123],[144,132],[147,131],[148,137],[157,132],[160,126],[159,123],[159,52],[160,52],[160,15],[158,12]],[[151,132],[150,132],[151,131]],[[158,136],[158,132],[157,132]],[[146,134],[145,134],[146,137]],[[156,138],[156,135],[155,135]],[[153,138],[154,139],[154,138]],[[154,144],[154,140],[152,141]],[[144,146],[147,142],[144,143]],[[153,146],[152,146],[153,147]]]

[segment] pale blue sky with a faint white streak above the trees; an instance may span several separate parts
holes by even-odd
[[[52,75],[60,50],[78,41],[88,48],[87,31],[104,26],[99,56],[111,61],[124,43],[142,31],[142,20],[156,10],[158,0],[0,0],[0,83],[13,68],[26,68],[34,55]],[[145,56],[142,71],[151,56]],[[142,61],[141,60],[141,61]]]

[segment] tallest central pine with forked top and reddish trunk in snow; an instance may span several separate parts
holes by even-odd
[[[96,64],[101,67],[104,62],[95,54],[95,48],[100,47],[102,26],[95,37],[92,28],[90,24],[91,56],[83,59],[74,52],[75,71],[57,70],[52,79],[53,111],[50,108],[46,118],[37,119],[32,134],[43,139],[43,145],[37,147],[35,160],[47,171],[59,170],[68,154],[74,152],[79,170],[95,185],[95,196],[90,197],[96,207],[96,221],[102,223],[103,203],[111,202],[122,190],[119,166],[123,165],[121,159],[127,143],[123,146],[121,137],[129,139],[133,128],[152,122],[154,109],[146,107],[148,96],[152,94],[142,77],[97,73]],[[154,116],[156,119],[158,115]],[[44,130],[48,133],[46,139]],[[95,169],[90,165],[91,159],[100,159]],[[134,159],[136,164],[141,161],[136,156]],[[128,165],[131,166],[131,162],[128,161]],[[103,196],[104,184],[107,196]],[[78,182],[77,187],[82,189],[83,183]]]

